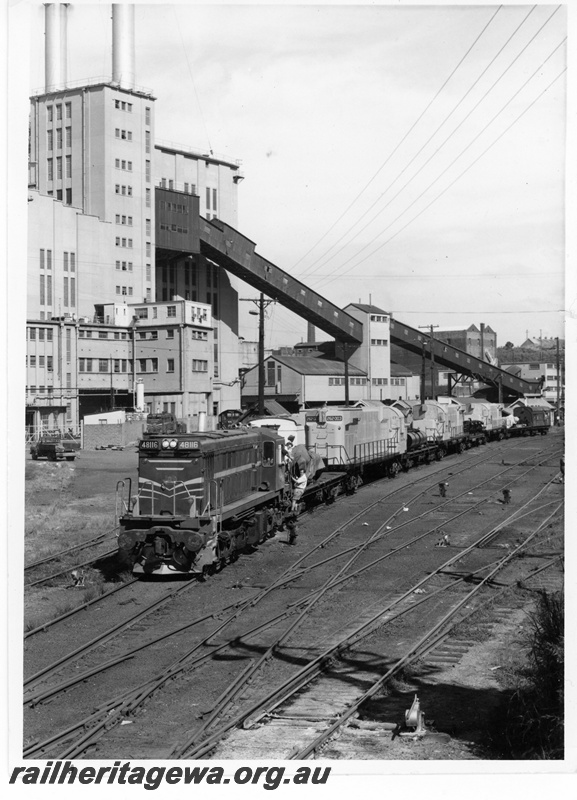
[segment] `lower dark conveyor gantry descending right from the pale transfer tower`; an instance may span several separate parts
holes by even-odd
[[[408,350],[416,355],[422,355],[423,343],[425,344],[425,353],[427,357],[430,357],[431,337],[417,328],[411,328],[410,325],[391,318],[391,344],[396,344],[403,350]],[[524,381],[511,375],[507,370],[494,367],[492,364],[434,337],[433,350],[436,364],[459,375],[467,375],[496,387],[501,385],[503,390],[518,395],[540,393],[541,391],[539,381]]]

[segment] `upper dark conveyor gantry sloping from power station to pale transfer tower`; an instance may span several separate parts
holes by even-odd
[[[362,323],[255,252],[255,243],[220,220],[200,217],[200,252],[340,342],[361,344]]]

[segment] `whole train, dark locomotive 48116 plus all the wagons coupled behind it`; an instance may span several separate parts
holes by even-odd
[[[138,445],[136,493],[130,479],[118,485],[119,550],[136,574],[211,574],[283,527],[292,535],[304,507],[354,492],[371,474],[394,477],[491,439],[549,430],[540,408],[515,415],[446,398],[361,401],[228,431],[153,427]],[[295,504],[291,472],[300,469],[308,484]]]

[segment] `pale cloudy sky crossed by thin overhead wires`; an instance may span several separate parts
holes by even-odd
[[[44,14],[30,7],[32,92]],[[238,227],[262,256],[341,307],[484,322],[520,344],[563,336],[566,15],[143,4],[136,84],[157,97],[158,139],[242,162]],[[109,4],[72,4],[69,80],[110,76],[110,41]],[[286,309],[267,315],[267,347],[306,338]]]

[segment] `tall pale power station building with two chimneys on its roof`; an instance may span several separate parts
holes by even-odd
[[[113,6],[109,81],[69,83],[66,17],[46,5],[30,104],[26,424],[76,428],[142,383],[148,410],[193,425],[240,406],[237,291],[190,222],[237,224],[240,164],[155,141],[133,6]]]

